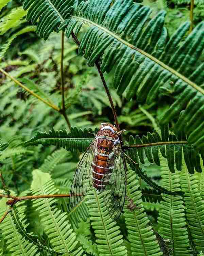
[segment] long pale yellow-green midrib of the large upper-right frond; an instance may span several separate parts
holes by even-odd
[[[90,23],[91,25],[98,27],[99,29],[103,30],[104,32],[106,32],[107,34],[111,35],[112,37],[114,37],[115,39],[117,39],[119,42],[123,43],[124,45],[130,47],[131,49],[134,49],[138,52],[140,52],[141,54],[145,55],[146,57],[148,57],[150,60],[154,61],[155,63],[157,63],[158,65],[162,66],[163,68],[167,69],[168,71],[170,71],[170,73],[174,74],[175,76],[179,77],[180,79],[182,79],[184,82],[186,82],[187,84],[189,84],[191,87],[193,87],[195,90],[197,90],[198,92],[202,93],[204,95],[204,90],[198,86],[197,84],[195,84],[194,82],[192,82],[191,80],[189,80],[187,77],[183,76],[182,74],[180,74],[179,72],[177,72],[175,69],[169,67],[168,65],[166,65],[165,63],[163,63],[162,61],[156,59],[155,57],[153,57],[151,54],[135,47],[134,45],[126,42],[124,39],[120,38],[118,35],[116,35],[115,33],[109,31],[107,28],[102,27],[100,25],[98,25],[97,23],[85,19],[83,17],[78,17],[78,16],[74,16],[74,15],[70,15],[70,17],[81,20],[84,23]]]

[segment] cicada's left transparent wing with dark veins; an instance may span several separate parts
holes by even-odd
[[[92,161],[95,157],[96,141],[86,149],[77,170],[70,190],[70,206],[78,205],[92,187]]]

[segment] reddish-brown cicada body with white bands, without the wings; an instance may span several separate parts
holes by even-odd
[[[110,125],[96,135],[95,156],[92,162],[93,187],[104,190],[114,169],[115,149],[119,144],[117,133]]]

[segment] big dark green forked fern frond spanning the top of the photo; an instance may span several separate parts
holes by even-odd
[[[84,23],[88,25],[90,28],[82,39],[79,53],[84,54],[90,66],[103,55],[103,72],[110,72],[115,66],[114,86],[120,95],[126,91],[126,97],[130,99],[137,94],[138,101],[146,100],[150,104],[157,98],[159,90],[167,91],[173,84],[171,91],[176,100],[162,117],[162,124],[185,109],[189,100],[185,119],[191,123],[198,121],[197,116],[203,112],[204,103],[201,86],[203,63],[200,60],[204,49],[204,22],[199,23],[182,41],[190,22],[182,24],[168,39],[164,27],[165,11],[160,11],[147,23],[151,13],[149,7],[131,0],[89,0],[82,1],[78,6],[75,2],[72,9],[70,5],[73,1],[68,0],[64,4],[61,4],[62,0],[46,0],[45,5],[36,0],[21,2],[24,2],[25,9],[30,6],[28,20],[33,19],[33,22],[44,10],[51,8],[38,23],[37,31],[44,38],[55,23],[56,27],[61,23],[60,28],[66,28],[67,37],[73,30],[78,33]],[[43,6],[45,9],[41,8]],[[64,18],[60,13],[62,9],[69,13]],[[49,16],[50,13],[53,17]],[[199,148],[204,145],[204,131],[201,130],[202,120],[198,122],[197,132],[202,134],[202,138],[193,144]],[[182,124],[181,129],[184,128]],[[192,132],[189,126],[188,135]]]

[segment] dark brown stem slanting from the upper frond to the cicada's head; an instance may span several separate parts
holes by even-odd
[[[80,46],[80,41],[78,40],[77,36],[75,36],[75,34],[74,34],[73,31],[71,32],[71,35],[72,35],[72,38],[73,38],[75,44],[77,44],[77,46],[79,47],[79,46]],[[116,127],[117,127],[117,129],[118,129],[118,131],[119,131],[119,130],[120,130],[120,126],[119,126],[119,123],[118,123],[118,118],[117,118],[117,114],[116,114],[116,109],[115,109],[115,106],[114,106],[114,103],[113,103],[113,99],[112,99],[112,97],[111,97],[111,94],[110,94],[110,92],[109,92],[108,86],[107,86],[107,84],[106,84],[105,78],[104,78],[104,76],[103,76],[103,73],[101,72],[101,66],[100,66],[100,64],[99,64],[98,61],[95,62],[95,65],[96,65],[96,67],[97,67],[97,69],[98,69],[99,75],[100,75],[101,80],[102,80],[102,82],[103,82],[103,86],[104,86],[104,88],[105,88],[106,94],[107,94],[107,96],[108,96],[108,99],[109,99],[109,102],[110,102],[110,104],[111,104],[111,108],[112,108],[112,111],[113,111],[114,121],[115,121]]]

